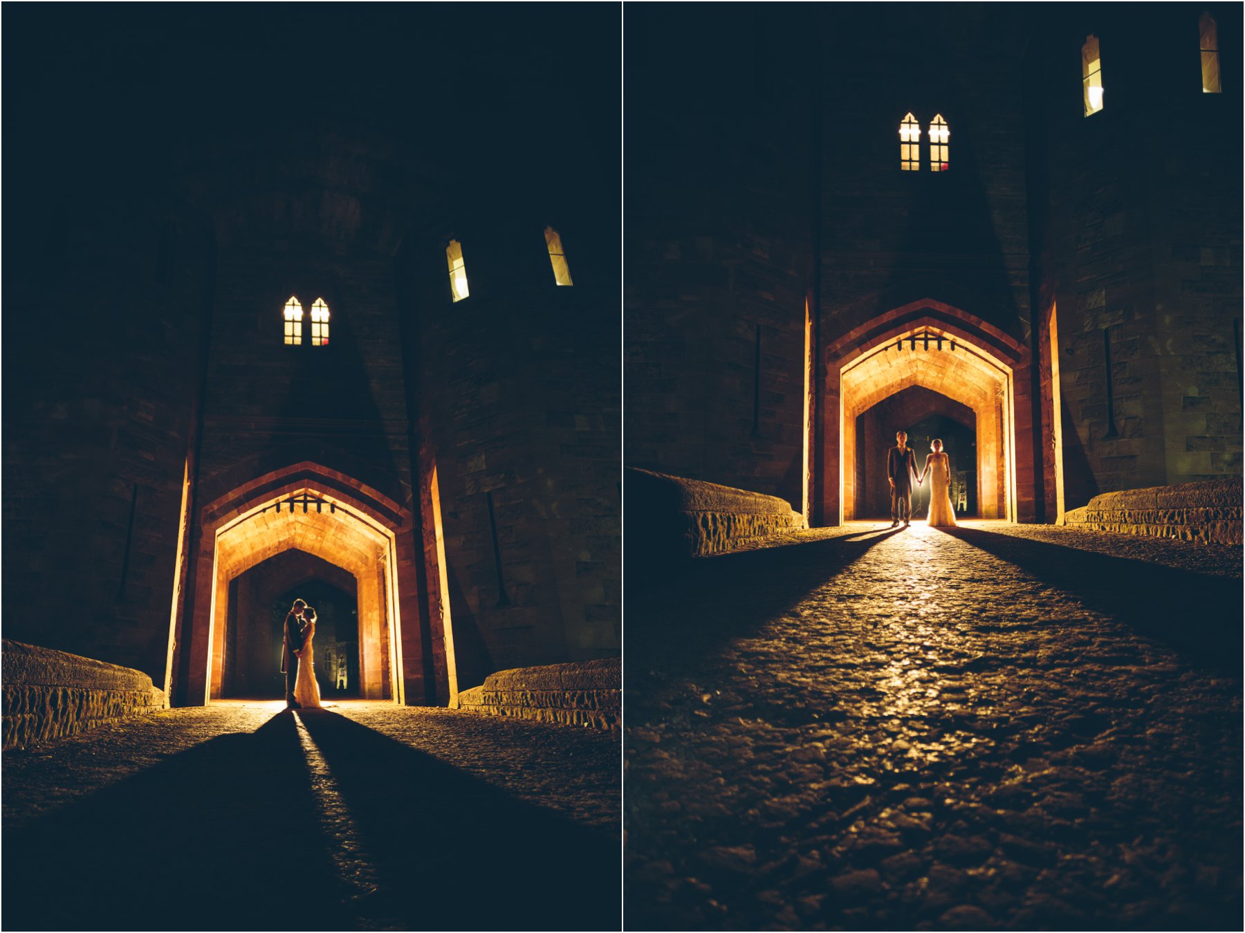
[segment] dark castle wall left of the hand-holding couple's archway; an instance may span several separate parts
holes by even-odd
[[[746,7],[717,11],[723,44],[686,11],[627,16],[627,135],[662,143],[627,151],[626,463],[803,511],[812,60]]]

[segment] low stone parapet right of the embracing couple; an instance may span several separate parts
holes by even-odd
[[[601,658],[489,674],[483,685],[458,694],[458,706],[492,716],[618,729],[622,664]]]

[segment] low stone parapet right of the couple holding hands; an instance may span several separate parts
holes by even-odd
[[[1241,543],[1241,481],[1208,480],[1094,496],[1067,513],[1067,524],[1093,531]]]

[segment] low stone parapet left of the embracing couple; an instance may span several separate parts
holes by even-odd
[[[51,648],[5,639],[0,668],[5,749],[61,739],[168,705],[164,691],[142,671]]]

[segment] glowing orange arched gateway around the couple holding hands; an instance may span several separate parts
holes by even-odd
[[[884,476],[880,457],[894,443],[894,431],[908,425],[862,437],[858,424],[896,396],[894,407],[905,419],[928,409],[975,429],[975,457],[964,463],[961,453],[960,462],[975,473],[980,517],[1033,521],[1028,351],[1017,340],[966,311],[923,299],[879,315],[827,348],[825,380],[825,523],[870,513],[865,503],[876,495],[870,498],[867,485]],[[916,451],[918,462],[926,452]]]

